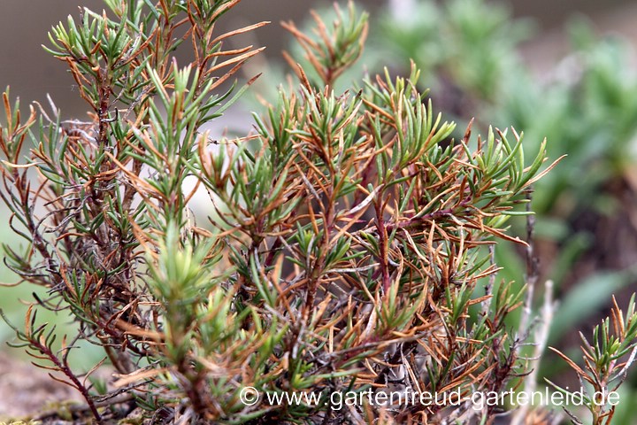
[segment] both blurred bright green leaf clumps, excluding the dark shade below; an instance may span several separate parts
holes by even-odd
[[[406,67],[413,59],[424,70],[422,82],[433,87],[444,111],[479,122],[524,128],[526,149],[536,150],[544,137],[550,155],[568,153],[537,187],[534,209],[543,237],[556,226],[559,242],[572,239],[570,223],[583,208],[612,213],[617,205],[600,189],[625,174],[634,162],[629,147],[637,133],[633,51],[616,36],[598,39],[586,21],[569,27],[573,51],[538,78],[523,66],[519,42],[531,22],[512,19],[503,5],[481,0],[444,4],[420,0],[413,10],[383,14],[380,35],[372,41]],[[551,226],[549,228],[549,226]],[[553,236],[555,237],[555,236]]]

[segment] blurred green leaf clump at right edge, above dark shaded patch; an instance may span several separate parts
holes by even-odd
[[[617,213],[617,201],[600,192],[634,163],[630,145],[637,134],[633,51],[619,39],[597,40],[585,22],[571,27],[575,49],[552,80],[526,80],[496,112],[529,134],[549,136],[551,152],[568,152],[563,169],[542,182],[536,198],[540,213],[566,219],[588,205]]]

